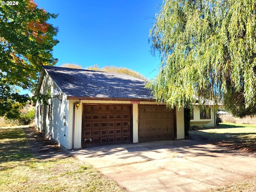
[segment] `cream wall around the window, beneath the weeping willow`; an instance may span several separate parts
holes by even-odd
[[[200,119],[200,109],[198,106],[193,108],[194,119],[190,120],[190,126],[205,126],[205,127],[214,127],[215,126],[215,114],[213,108],[211,108],[211,118],[210,119]]]

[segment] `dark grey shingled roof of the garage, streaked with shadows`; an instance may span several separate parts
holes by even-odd
[[[67,98],[152,99],[141,79],[120,73],[43,66]],[[42,72],[41,72],[42,73]],[[37,88],[38,90],[38,88]]]

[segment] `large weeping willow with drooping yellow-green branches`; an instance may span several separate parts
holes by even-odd
[[[256,114],[256,0],[164,0],[149,41],[161,58],[147,85],[158,101]]]

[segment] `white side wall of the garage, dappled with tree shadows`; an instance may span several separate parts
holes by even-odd
[[[44,105],[42,102],[36,103],[37,106],[43,106],[43,114],[36,116],[35,118],[35,126],[39,131],[44,131],[45,134],[51,136],[53,140],[58,142],[63,148],[68,148],[68,106],[69,101],[66,100],[64,96],[62,99],[54,97],[54,88],[56,88],[55,82],[50,78],[50,76],[46,73],[44,75],[42,86],[40,88],[41,94],[46,94],[47,90],[50,90],[52,98],[48,99],[48,104],[52,104],[52,116],[49,119],[48,111],[49,105]]]

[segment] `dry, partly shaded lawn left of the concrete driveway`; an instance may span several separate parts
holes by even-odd
[[[0,128],[0,178],[4,192],[126,191],[75,158],[34,158],[22,128]]]

